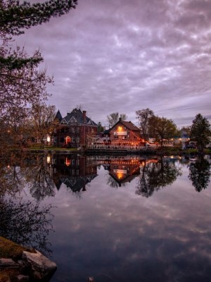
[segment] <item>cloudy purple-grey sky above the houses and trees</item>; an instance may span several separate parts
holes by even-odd
[[[210,0],[78,0],[16,40],[41,49],[63,116],[81,104],[96,123],[115,111],[136,123],[150,108],[181,127],[211,120],[210,18]]]

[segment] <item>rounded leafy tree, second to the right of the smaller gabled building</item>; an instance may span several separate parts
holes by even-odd
[[[178,134],[178,129],[171,119],[152,116],[149,120],[149,133],[162,146],[164,140],[168,140]]]

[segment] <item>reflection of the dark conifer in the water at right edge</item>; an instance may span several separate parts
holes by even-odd
[[[210,164],[203,157],[200,158],[200,161],[193,162],[189,165],[188,178],[192,181],[192,185],[197,192],[207,188],[210,183],[210,176]]]

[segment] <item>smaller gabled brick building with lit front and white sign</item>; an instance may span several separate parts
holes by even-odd
[[[120,118],[109,130],[110,141],[118,145],[140,145],[141,130],[131,121],[122,121]]]

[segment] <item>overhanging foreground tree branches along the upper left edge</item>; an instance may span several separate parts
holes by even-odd
[[[9,119],[12,115],[27,113],[30,105],[49,97],[46,85],[53,79],[46,70],[39,71],[43,61],[39,50],[28,56],[24,48],[13,50],[12,35],[24,33],[34,25],[41,25],[68,13],[75,8],[77,0],[50,0],[30,4],[18,0],[0,0],[0,118]]]

